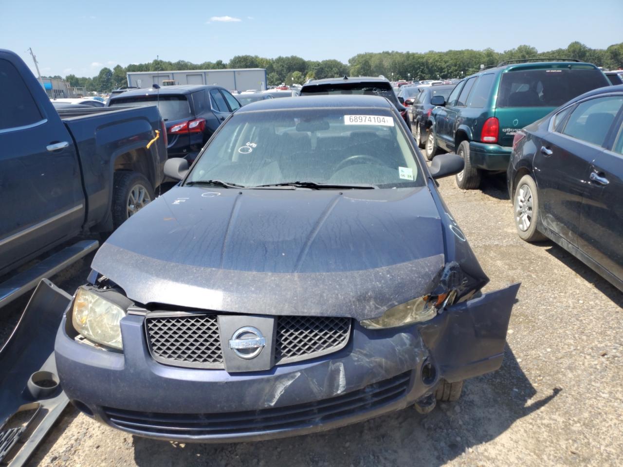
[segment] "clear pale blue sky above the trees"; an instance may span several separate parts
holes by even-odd
[[[194,63],[244,54],[346,62],[383,50],[551,50],[573,40],[604,48],[623,41],[622,23],[623,0],[0,0],[0,47],[29,65],[32,47],[43,75],[93,76],[156,55]]]

